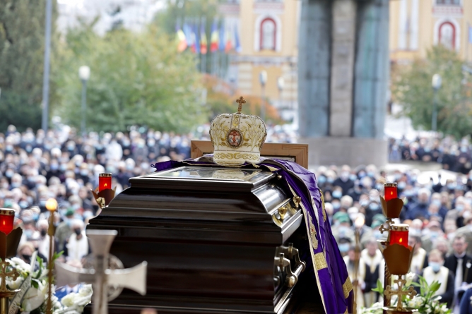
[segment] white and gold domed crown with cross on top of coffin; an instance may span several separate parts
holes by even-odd
[[[219,114],[211,121],[210,138],[213,160],[217,164],[236,166],[259,162],[261,149],[266,140],[266,124],[259,116],[241,113],[246,101],[241,96],[235,114]]]

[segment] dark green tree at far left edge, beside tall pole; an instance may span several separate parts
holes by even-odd
[[[45,7],[46,0],[0,1],[0,131],[41,126]],[[56,16],[53,6],[52,25]]]

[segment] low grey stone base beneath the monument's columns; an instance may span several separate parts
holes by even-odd
[[[374,164],[384,167],[388,162],[387,140],[377,138],[324,137],[299,138],[298,143],[308,144],[309,167],[341,166],[348,164]]]

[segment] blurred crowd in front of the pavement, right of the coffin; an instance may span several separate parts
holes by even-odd
[[[379,195],[385,182],[396,182],[399,197],[405,199],[396,222],[409,225],[408,243],[414,247],[411,273],[416,279],[423,275],[429,284],[439,281],[436,294],[459,313],[461,296],[472,283],[472,171],[445,183],[432,179],[419,183],[417,169],[387,173],[373,165],[319,167],[315,173],[338,248],[350,275],[358,274],[351,278],[359,283],[358,305],[368,307],[381,298],[372,291],[377,280],[383,281],[384,260],[377,240],[387,237],[381,229],[386,218]],[[357,232],[362,251],[360,268],[354,272]],[[468,298],[463,300],[470,306]]]

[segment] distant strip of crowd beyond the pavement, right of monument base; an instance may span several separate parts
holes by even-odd
[[[457,141],[452,136],[420,136],[414,140],[389,139],[389,160],[437,162],[443,169],[468,174],[472,169],[472,146],[469,138]]]

